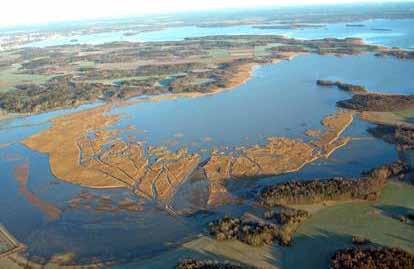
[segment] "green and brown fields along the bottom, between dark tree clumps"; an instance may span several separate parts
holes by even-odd
[[[255,248],[238,241],[202,237],[158,257],[113,268],[174,268],[183,257],[233,261],[260,268],[329,268],[336,250],[352,247],[352,236],[374,245],[414,252],[414,226],[394,218],[414,213],[414,186],[390,182],[377,202],[342,203],[317,211],[297,232],[293,246]]]

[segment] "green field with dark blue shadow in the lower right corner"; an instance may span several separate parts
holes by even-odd
[[[395,182],[378,202],[325,208],[300,228],[293,247],[282,249],[282,268],[329,268],[336,250],[352,246],[353,235],[414,252],[414,226],[392,217],[408,212],[414,213],[414,186]]]

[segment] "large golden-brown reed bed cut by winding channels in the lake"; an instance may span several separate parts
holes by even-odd
[[[229,199],[224,187],[226,179],[288,173],[328,157],[349,141],[340,135],[353,119],[352,112],[328,116],[322,122],[326,131],[309,144],[271,137],[266,145],[227,155],[213,151],[208,161],[201,164],[200,156],[188,153],[185,148],[171,152],[118,140],[116,131],[103,129],[117,118],[105,115],[106,109],[99,107],[53,120],[50,129],[23,143],[48,154],[52,173],[59,179],[91,188],[129,187],[166,207],[180,184],[196,169],[202,169],[210,182],[208,203],[218,205]],[[151,162],[152,157],[155,161]]]

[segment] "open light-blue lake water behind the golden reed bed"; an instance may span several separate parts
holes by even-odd
[[[319,87],[316,80],[341,80],[376,92],[409,94],[414,92],[413,68],[413,61],[373,55],[299,56],[256,69],[252,79],[235,90],[116,108],[113,113],[125,117],[115,126],[125,129],[132,124],[144,131],[140,136],[152,145],[177,140],[179,146],[194,149],[263,143],[269,136],[306,139],[305,131],[320,129],[320,121],[336,111],[337,101],[351,97]],[[123,131],[124,137],[134,133]]]

